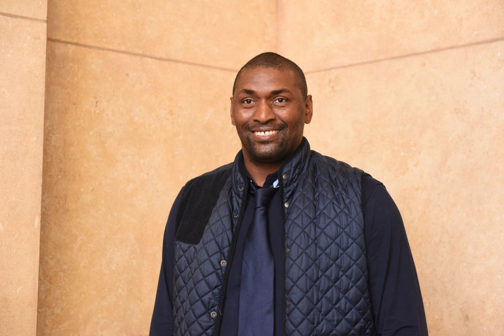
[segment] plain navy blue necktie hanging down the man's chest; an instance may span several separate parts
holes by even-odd
[[[255,192],[254,218],[248,229],[241,269],[238,334],[273,335],[275,263],[268,238],[268,206],[275,188]]]

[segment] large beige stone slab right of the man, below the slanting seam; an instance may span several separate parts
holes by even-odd
[[[312,148],[402,213],[433,335],[500,334],[504,41],[307,76]]]

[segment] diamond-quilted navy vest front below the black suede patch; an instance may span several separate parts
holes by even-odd
[[[218,312],[224,268],[232,239],[229,190],[226,183],[212,211],[202,240],[196,244],[175,241],[173,279],[174,330],[177,335],[211,335]],[[226,191],[227,190],[227,191]]]

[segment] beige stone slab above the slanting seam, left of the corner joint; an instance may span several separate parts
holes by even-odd
[[[48,37],[238,70],[276,48],[276,2],[49,1]]]

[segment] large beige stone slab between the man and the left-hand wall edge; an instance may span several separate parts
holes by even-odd
[[[234,73],[48,42],[39,334],[147,334],[164,224],[232,161]]]

